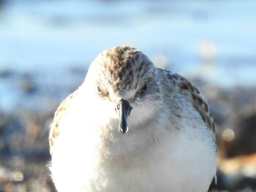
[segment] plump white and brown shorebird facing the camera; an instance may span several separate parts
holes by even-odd
[[[206,192],[216,173],[214,120],[200,91],[132,47],[95,58],[56,111],[49,142],[59,192]]]

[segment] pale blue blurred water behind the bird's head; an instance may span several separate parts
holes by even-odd
[[[131,45],[187,77],[222,87],[256,82],[256,1],[4,2],[1,70],[68,83],[65,69],[86,72],[102,50]],[[2,103],[15,98],[2,78],[0,92]]]

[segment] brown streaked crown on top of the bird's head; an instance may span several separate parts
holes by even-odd
[[[132,47],[113,47],[101,53],[93,62],[98,79],[114,91],[137,89],[141,81],[154,72],[154,65],[139,50]]]

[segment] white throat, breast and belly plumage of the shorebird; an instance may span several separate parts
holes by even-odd
[[[115,106],[88,96],[73,99],[59,122],[51,168],[59,192],[208,190],[216,172],[215,144],[203,120],[198,124],[200,115],[195,123],[189,116],[194,108],[187,107],[191,112],[178,130],[164,112],[157,120],[154,109],[134,107],[128,133],[120,134]],[[149,123],[141,127],[145,120]]]

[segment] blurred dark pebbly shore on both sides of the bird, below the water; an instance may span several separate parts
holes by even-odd
[[[37,73],[0,72],[1,87],[15,92],[8,98],[2,89],[0,96],[0,192],[55,191],[48,170],[49,126],[60,101],[85,73],[69,69],[63,85],[50,77],[43,83]],[[256,88],[192,81],[208,99],[216,124],[218,185],[211,185],[211,191],[256,191]]]

